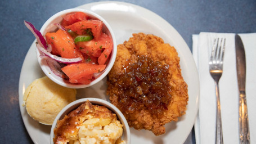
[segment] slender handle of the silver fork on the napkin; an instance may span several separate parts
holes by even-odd
[[[216,140],[215,143],[223,143],[222,124],[221,124],[221,102],[219,100],[219,84],[215,82],[215,91],[217,98],[217,115],[216,115]]]

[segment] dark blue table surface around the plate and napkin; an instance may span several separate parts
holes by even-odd
[[[54,13],[96,1],[0,1],[0,141],[33,143],[19,109],[19,78],[26,53],[34,40],[24,20],[41,28]],[[192,50],[192,34],[256,32],[255,0],[124,0],[145,7],[167,20]],[[195,143],[194,129],[185,143]]]

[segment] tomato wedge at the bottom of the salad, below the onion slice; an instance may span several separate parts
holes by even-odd
[[[99,73],[105,68],[106,65],[79,63],[67,65],[61,70],[69,77],[70,83],[89,84],[93,73]]]

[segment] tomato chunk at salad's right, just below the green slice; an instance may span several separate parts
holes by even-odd
[[[102,33],[100,39],[92,39],[88,42],[78,42],[77,48],[89,56],[99,57],[106,49],[112,49],[113,42],[109,35]]]

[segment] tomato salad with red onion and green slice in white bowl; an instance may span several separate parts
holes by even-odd
[[[41,58],[57,76],[70,83],[89,84],[106,68],[113,41],[102,31],[103,22],[86,13],[65,15],[56,32],[46,33],[45,39],[34,26],[24,21],[37,38]]]

